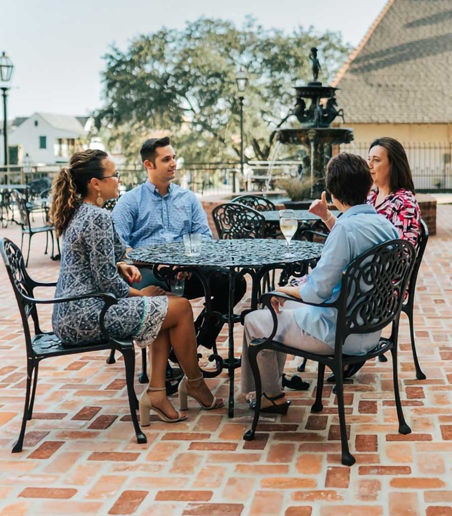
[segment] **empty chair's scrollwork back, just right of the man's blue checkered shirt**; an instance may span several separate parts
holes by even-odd
[[[264,217],[243,204],[220,204],[214,208],[212,217],[220,240],[265,236]]]

